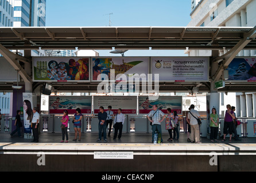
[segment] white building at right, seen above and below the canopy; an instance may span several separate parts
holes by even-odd
[[[192,0],[193,2],[194,0]],[[194,2],[195,3],[195,2]],[[256,0],[201,0],[191,12],[187,26],[254,27],[256,25]],[[228,50],[219,50],[219,55]],[[211,56],[208,50],[185,51],[188,56]],[[256,57],[256,50],[242,50],[237,56]],[[220,93],[220,111],[224,116],[226,105],[236,106],[236,115],[256,117],[255,93]]]

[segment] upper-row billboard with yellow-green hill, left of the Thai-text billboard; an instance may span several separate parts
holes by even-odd
[[[92,81],[110,80],[111,69],[114,70],[115,81],[129,81],[129,76],[134,74],[138,74],[138,78],[146,79],[149,73],[149,57],[93,57]],[[99,74],[102,75],[97,80]],[[117,77],[118,74],[125,74],[125,78]]]

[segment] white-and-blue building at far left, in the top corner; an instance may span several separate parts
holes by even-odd
[[[13,26],[14,0],[0,0],[0,27]]]

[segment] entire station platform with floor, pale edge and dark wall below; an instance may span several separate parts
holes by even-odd
[[[125,133],[121,140],[108,137],[98,143],[98,133],[83,133],[81,141],[60,143],[61,133],[41,133],[40,142],[0,133],[0,171],[75,172],[183,172],[255,171],[256,139],[214,142],[201,138],[201,144],[179,141],[152,144],[151,134]],[[41,159],[44,158],[44,159]]]

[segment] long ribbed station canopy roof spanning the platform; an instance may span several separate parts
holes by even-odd
[[[7,49],[231,49],[253,27],[1,27]],[[251,41],[245,49],[255,49]]]

